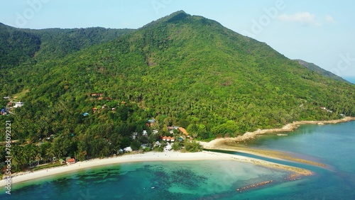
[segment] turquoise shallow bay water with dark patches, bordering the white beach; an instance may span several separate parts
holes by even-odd
[[[282,183],[288,174],[235,161],[141,162],[16,184],[11,199],[222,199],[258,182]]]

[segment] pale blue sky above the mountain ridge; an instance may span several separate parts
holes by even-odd
[[[140,28],[184,10],[267,43],[341,77],[355,77],[355,1],[351,0],[16,0],[0,22],[18,28]]]

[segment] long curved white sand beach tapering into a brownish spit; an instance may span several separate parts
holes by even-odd
[[[72,165],[65,165],[60,167],[53,167],[35,172],[27,172],[25,174],[18,174],[11,178],[11,184],[26,182],[33,179],[49,177],[66,172],[75,172],[78,170],[89,169],[92,167],[99,167],[104,165],[115,165],[130,162],[156,162],[156,161],[196,161],[196,160],[234,160],[237,162],[248,162],[253,165],[260,165],[263,167],[271,167],[278,170],[290,171],[299,176],[310,176],[313,174],[310,170],[305,170],[288,165],[280,165],[274,162],[267,162],[251,157],[244,157],[241,155],[228,155],[219,152],[146,152],[143,154],[123,155],[119,157],[109,157],[104,159],[94,159],[84,162],[77,162]],[[6,179],[1,179],[0,187],[4,187]]]

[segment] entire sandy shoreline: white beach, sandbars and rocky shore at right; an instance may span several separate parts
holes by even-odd
[[[355,117],[345,117],[339,120],[332,121],[295,121],[293,123],[288,123],[283,126],[283,128],[272,128],[272,129],[258,129],[253,132],[246,132],[244,135],[239,135],[236,138],[217,138],[210,142],[200,142],[200,144],[205,149],[214,149],[214,150],[231,150],[231,151],[239,151],[246,152],[253,155],[261,155],[264,157],[271,157],[281,160],[293,160],[295,162],[302,162],[310,165],[317,165],[320,167],[325,167],[322,163],[312,162],[310,160],[302,160],[297,157],[292,157],[287,153],[277,152],[272,150],[257,150],[257,149],[249,149],[249,148],[239,148],[230,145],[232,143],[244,142],[246,140],[253,140],[258,135],[262,135],[265,133],[280,133],[280,132],[291,132],[296,130],[299,126],[305,124],[334,124],[334,123],[343,123],[348,121],[355,121]],[[253,165],[260,165],[263,167],[271,167],[278,170],[286,170],[290,172],[296,173],[298,176],[310,176],[313,174],[310,170],[305,170],[298,167],[292,167],[288,165],[280,165],[274,162],[267,162],[265,160],[258,160],[251,157],[245,157],[241,155],[227,155],[219,152],[146,152],[143,154],[129,154],[122,155],[118,157],[109,157],[104,159],[93,159],[84,162],[77,162],[72,165],[64,165],[60,167],[52,167],[48,169],[38,170],[35,172],[19,172],[18,174],[13,174],[15,177],[11,178],[11,184],[26,182],[33,179],[39,179],[43,177],[49,177],[56,174],[62,174],[67,172],[75,172],[78,170],[89,169],[92,167],[99,167],[104,165],[115,165],[121,163],[129,163],[129,162],[157,162],[157,161],[195,161],[195,160],[235,160],[238,162],[249,162]],[[0,187],[4,187],[6,179],[1,179]]]

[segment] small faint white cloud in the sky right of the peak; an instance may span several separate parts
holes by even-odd
[[[278,20],[286,21],[286,22],[303,23],[303,24],[308,24],[308,25],[313,25],[313,26],[322,25],[320,22],[318,22],[316,20],[315,14],[312,14],[310,12],[295,13],[293,15],[283,14],[283,15],[278,16]]]

